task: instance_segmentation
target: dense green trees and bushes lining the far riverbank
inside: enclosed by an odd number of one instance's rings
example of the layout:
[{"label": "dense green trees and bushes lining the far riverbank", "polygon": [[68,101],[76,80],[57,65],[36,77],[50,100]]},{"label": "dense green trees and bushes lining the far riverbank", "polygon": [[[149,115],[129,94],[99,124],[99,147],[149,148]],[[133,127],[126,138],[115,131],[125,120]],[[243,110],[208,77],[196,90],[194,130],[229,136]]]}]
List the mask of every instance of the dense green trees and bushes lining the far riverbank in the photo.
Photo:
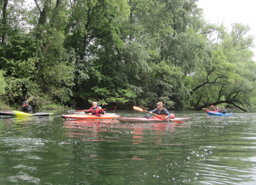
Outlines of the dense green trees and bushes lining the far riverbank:
[{"label": "dense green trees and bushes lining the far riverbank", "polygon": [[204,20],[197,0],[0,0],[0,96],[12,107],[255,110],[249,27]]}]

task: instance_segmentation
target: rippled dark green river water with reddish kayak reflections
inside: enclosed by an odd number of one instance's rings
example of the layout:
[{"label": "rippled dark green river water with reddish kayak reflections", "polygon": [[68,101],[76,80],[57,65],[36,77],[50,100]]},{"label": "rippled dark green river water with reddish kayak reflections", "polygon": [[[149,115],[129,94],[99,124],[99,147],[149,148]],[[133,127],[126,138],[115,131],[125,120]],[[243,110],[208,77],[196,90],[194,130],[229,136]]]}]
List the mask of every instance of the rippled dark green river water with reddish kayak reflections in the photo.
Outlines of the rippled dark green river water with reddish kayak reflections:
[{"label": "rippled dark green river water with reddish kayak reflections", "polygon": [[[0,118],[0,184],[255,184],[256,114],[182,124]],[[116,111],[123,117],[143,112]]]}]

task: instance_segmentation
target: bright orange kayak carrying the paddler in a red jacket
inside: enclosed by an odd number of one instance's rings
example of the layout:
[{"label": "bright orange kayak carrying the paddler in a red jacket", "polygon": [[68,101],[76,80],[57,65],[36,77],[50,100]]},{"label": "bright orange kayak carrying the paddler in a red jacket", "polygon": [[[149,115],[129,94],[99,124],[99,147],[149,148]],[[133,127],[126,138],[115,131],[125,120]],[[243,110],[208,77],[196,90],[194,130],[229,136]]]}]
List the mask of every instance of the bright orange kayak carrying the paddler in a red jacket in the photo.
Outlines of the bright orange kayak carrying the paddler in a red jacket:
[{"label": "bright orange kayak carrying the paddler in a red jacket", "polygon": [[93,116],[91,114],[63,114],[61,118],[65,119],[76,119],[76,120],[110,120],[119,118],[117,114],[103,114],[100,116]]}]

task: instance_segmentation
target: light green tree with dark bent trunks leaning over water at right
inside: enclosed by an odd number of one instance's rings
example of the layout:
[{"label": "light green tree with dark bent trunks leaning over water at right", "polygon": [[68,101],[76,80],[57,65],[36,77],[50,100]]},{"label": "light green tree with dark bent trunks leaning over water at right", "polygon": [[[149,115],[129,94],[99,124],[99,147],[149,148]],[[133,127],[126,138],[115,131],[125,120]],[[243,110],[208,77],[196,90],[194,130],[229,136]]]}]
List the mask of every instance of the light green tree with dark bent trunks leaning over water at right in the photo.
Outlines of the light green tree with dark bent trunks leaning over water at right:
[{"label": "light green tree with dark bent trunks leaning over water at right", "polygon": [[[195,110],[209,105],[229,103],[246,111],[255,97],[255,69],[252,61],[253,37],[249,27],[233,24],[231,33],[221,32],[221,42],[212,50],[212,61],[195,73],[192,100]],[[216,50],[214,50],[216,48]],[[249,67],[249,68],[248,68]]]}]

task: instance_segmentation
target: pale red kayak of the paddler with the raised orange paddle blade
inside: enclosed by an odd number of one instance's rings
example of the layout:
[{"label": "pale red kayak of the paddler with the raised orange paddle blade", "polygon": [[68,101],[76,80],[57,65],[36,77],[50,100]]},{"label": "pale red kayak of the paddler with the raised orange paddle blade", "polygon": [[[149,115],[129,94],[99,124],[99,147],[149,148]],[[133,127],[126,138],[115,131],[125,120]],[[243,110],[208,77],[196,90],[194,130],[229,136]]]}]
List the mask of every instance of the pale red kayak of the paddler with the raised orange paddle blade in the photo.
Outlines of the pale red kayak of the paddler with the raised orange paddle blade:
[{"label": "pale red kayak of the paddler with the raised orange paddle blade", "polygon": [[190,120],[190,117],[187,118],[173,118],[169,120],[163,120],[156,117],[150,117],[150,118],[116,118],[117,120],[121,122],[185,122],[187,120]]}]

